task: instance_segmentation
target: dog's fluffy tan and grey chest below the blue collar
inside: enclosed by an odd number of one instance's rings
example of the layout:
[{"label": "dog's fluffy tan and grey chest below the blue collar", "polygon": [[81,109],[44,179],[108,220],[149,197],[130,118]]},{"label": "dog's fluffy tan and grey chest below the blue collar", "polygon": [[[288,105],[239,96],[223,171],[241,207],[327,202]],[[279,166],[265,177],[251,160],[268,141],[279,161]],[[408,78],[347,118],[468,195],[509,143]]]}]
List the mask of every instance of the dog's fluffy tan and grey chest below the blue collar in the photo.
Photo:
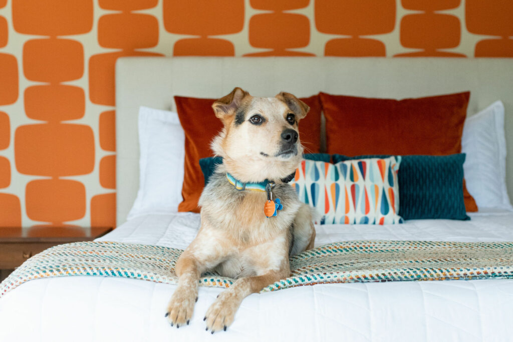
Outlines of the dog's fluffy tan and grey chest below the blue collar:
[{"label": "dog's fluffy tan and grey chest below the blue collar", "polygon": [[[233,278],[288,269],[292,243],[292,222],[300,207],[295,191],[287,184],[273,189],[283,209],[266,217],[265,192],[239,191],[228,183],[224,173],[215,173],[200,198],[204,228],[216,236],[226,258],[215,270]],[[287,265],[285,265],[287,264]]]}]

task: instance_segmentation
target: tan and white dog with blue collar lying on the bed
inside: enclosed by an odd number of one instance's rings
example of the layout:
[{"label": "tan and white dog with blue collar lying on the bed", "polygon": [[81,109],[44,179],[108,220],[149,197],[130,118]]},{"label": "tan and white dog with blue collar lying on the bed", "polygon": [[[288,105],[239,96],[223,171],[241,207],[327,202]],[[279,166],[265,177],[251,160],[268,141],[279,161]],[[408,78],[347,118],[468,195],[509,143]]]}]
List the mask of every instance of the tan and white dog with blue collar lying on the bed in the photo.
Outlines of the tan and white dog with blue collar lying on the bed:
[{"label": "tan and white dog with blue collar lying on the bed", "polygon": [[309,107],[286,92],[253,97],[235,88],[212,108],[224,124],[211,144],[223,164],[200,197],[201,227],[176,261],[165,316],[176,328],[189,324],[202,273],[236,278],[205,314],[213,334],[226,331],[246,296],[290,275],[289,256],[313,248],[315,229],[286,184],[302,159],[298,124]]}]

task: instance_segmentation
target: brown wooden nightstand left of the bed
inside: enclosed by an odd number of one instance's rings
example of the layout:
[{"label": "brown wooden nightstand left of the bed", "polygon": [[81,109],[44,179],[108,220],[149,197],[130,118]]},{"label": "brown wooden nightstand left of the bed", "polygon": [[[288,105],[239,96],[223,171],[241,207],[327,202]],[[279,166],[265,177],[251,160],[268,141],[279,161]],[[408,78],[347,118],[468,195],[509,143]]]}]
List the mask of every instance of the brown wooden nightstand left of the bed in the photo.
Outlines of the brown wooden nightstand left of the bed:
[{"label": "brown wooden nightstand left of the bed", "polygon": [[92,241],[110,232],[112,227],[34,227],[0,228],[0,281],[32,255],[55,245]]}]

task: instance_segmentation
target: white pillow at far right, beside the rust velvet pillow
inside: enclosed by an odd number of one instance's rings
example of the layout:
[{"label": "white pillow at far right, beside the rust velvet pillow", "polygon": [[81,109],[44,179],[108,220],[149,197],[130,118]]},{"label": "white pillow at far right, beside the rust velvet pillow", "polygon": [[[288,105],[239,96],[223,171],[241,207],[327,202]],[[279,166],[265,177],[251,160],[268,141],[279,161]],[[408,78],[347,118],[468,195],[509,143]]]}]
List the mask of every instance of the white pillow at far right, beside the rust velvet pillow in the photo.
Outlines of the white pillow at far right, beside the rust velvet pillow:
[{"label": "white pillow at far right, beside the rust velvet pillow", "polygon": [[497,101],[465,120],[461,140],[468,192],[478,208],[513,209],[506,189],[504,105]]}]

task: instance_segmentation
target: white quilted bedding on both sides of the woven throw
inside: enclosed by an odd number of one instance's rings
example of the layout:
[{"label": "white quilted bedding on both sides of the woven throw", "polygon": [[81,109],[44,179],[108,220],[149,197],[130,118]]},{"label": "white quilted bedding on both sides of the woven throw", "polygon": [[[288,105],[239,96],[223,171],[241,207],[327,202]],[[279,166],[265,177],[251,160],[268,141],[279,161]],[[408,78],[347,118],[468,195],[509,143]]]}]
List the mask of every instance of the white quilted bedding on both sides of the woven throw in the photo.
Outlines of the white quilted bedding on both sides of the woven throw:
[{"label": "white quilted bedding on both sides of the woven throw", "polygon": [[[513,212],[470,221],[410,220],[403,225],[317,226],[316,245],[338,240],[513,241]],[[147,215],[102,237],[186,248],[198,214]],[[126,278],[28,281],[0,300],[2,340],[174,341],[507,341],[513,339],[513,280],[326,284],[252,294],[227,332],[205,331],[219,288],[200,287],[190,326],[164,318],[174,285]]]}]

